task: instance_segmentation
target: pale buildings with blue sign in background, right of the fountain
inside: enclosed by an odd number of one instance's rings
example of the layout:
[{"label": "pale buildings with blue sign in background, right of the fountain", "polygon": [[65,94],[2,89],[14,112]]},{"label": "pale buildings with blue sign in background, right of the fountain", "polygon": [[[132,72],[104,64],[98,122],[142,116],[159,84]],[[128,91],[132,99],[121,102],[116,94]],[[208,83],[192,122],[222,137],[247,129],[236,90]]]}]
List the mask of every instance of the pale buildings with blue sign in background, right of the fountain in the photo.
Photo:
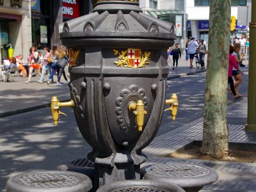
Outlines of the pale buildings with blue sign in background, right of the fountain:
[{"label": "pale buildings with blue sign in background, right of the fountain", "polygon": [[[209,0],[140,0],[140,7],[148,15],[175,24],[177,35],[175,41],[179,44],[182,45],[184,42],[182,39],[186,39],[187,36],[193,36],[197,40],[204,39],[207,44],[209,39],[209,3]],[[232,36],[239,37],[248,31],[248,24],[239,24],[239,20],[243,15],[247,17],[248,14],[243,12],[250,10],[248,8],[251,6],[252,0],[231,0],[231,16],[238,18],[236,30],[232,31]],[[241,14],[239,15],[239,13]],[[185,35],[183,33],[181,35],[181,31],[184,30]]]}]

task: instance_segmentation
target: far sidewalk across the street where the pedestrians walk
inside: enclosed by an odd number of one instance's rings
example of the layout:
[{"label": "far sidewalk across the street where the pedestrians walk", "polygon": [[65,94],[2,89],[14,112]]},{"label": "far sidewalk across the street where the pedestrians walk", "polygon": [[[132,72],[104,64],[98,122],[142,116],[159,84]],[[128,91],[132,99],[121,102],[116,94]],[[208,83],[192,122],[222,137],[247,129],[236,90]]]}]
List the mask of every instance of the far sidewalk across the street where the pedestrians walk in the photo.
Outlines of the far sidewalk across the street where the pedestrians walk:
[{"label": "far sidewalk across the street where the pedestrians walk", "polygon": [[[66,67],[66,74],[68,74],[67,70]],[[170,68],[168,79],[204,71],[205,69],[201,70],[196,68],[195,65],[193,68],[189,68],[189,61],[185,61],[184,57],[182,57],[179,60],[178,68],[175,68],[175,70]],[[47,77],[45,75],[44,79],[46,80]],[[25,83],[28,77],[20,77],[20,82],[17,79],[12,83],[3,83],[0,81],[0,118],[50,106],[52,96],[57,96],[61,101],[70,99],[67,84],[63,84],[62,86],[56,86],[56,83],[48,85],[46,81],[40,84],[36,82],[39,79],[40,77],[32,77],[32,83],[30,84]],[[54,81],[56,80],[57,76],[54,76]],[[61,77],[61,81],[64,83],[63,77]]]}]

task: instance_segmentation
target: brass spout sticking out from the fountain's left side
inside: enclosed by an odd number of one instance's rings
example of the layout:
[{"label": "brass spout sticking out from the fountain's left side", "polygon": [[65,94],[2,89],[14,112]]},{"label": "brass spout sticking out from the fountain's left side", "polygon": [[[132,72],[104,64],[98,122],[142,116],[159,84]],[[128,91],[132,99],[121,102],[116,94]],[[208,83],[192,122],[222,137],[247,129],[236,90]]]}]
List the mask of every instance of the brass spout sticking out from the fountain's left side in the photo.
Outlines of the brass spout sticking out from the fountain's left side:
[{"label": "brass spout sticking out from the fountain's left side", "polygon": [[67,107],[73,108],[74,101],[70,100],[68,102],[60,102],[57,97],[52,97],[51,111],[52,111],[52,118],[53,118],[54,125],[58,125],[58,120],[60,115],[67,116],[65,113],[62,113],[60,111],[60,108],[67,108]]}]

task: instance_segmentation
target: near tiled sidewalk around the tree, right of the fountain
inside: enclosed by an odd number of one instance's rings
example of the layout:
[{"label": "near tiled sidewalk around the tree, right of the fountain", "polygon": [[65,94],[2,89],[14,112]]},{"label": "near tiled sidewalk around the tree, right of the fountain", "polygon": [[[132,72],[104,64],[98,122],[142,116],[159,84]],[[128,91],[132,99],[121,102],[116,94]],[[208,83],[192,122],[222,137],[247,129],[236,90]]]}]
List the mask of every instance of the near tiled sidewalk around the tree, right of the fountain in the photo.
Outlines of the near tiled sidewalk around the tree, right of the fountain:
[{"label": "near tiled sidewalk around the tree, right of the fountain", "polygon": [[[244,147],[256,151],[256,132],[244,130],[247,120],[247,104],[247,98],[243,98],[228,106],[229,143],[241,149]],[[199,118],[154,138],[152,143],[143,150],[148,156],[148,161],[145,164],[180,162],[209,166],[218,172],[219,179],[214,184],[204,186],[200,190],[202,192],[256,191],[256,159],[254,163],[234,163],[164,157],[179,148],[186,148],[195,141],[202,141],[203,121],[203,118]]]}]

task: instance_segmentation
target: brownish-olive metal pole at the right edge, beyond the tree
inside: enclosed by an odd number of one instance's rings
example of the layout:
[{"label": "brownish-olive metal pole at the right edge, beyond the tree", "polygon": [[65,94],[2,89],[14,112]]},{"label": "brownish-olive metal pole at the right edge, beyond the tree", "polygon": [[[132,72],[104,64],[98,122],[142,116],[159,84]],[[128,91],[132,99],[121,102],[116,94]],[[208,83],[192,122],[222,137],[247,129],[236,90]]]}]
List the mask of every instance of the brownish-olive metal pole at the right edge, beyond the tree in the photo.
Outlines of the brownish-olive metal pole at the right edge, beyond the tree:
[{"label": "brownish-olive metal pole at the right edge, beyond the tree", "polygon": [[246,131],[256,131],[256,2],[252,1],[252,18],[250,22],[250,53],[249,54],[249,77],[248,77],[248,117],[245,125]]}]

